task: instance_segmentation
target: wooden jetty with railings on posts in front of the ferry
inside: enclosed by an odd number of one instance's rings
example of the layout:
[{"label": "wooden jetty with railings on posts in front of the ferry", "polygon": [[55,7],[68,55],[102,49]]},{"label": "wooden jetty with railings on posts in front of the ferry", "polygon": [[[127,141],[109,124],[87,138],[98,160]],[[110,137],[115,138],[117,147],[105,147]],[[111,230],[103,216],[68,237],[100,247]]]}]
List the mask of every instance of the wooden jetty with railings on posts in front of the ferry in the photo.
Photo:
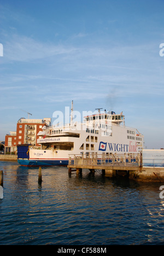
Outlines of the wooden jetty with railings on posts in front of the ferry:
[{"label": "wooden jetty with railings on posts in front of the ferry", "polygon": [[102,170],[105,176],[127,176],[137,182],[164,182],[164,167],[148,167],[142,164],[139,154],[88,154],[69,155],[68,172]]}]

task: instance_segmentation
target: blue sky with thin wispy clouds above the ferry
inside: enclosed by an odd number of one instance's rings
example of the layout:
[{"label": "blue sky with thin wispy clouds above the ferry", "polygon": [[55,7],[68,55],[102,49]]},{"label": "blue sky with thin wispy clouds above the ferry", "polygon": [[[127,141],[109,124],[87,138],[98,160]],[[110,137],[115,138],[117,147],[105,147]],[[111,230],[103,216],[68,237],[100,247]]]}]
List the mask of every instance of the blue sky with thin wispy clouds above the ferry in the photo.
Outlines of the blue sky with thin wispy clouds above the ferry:
[{"label": "blue sky with thin wispy clouds above the ferry", "polygon": [[81,115],[123,112],[145,148],[164,148],[163,9],[163,0],[0,0],[0,141],[27,112],[53,121],[73,100]]}]

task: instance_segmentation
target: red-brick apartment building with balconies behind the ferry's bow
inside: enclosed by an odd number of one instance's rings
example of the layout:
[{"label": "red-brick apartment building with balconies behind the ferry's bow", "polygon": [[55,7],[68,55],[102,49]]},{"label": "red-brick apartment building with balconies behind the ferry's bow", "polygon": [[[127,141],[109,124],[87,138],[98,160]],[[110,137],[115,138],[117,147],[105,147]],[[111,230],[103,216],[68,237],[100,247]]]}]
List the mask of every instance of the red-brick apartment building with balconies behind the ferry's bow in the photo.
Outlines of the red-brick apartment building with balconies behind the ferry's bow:
[{"label": "red-brick apartment building with balconies behind the ferry's bow", "polygon": [[49,126],[50,124],[51,118],[20,118],[17,121],[16,131],[10,131],[10,135],[5,136],[5,154],[16,153],[17,144],[31,144],[39,147],[40,145],[37,143],[37,139],[40,138],[38,132],[42,131],[43,126]]}]

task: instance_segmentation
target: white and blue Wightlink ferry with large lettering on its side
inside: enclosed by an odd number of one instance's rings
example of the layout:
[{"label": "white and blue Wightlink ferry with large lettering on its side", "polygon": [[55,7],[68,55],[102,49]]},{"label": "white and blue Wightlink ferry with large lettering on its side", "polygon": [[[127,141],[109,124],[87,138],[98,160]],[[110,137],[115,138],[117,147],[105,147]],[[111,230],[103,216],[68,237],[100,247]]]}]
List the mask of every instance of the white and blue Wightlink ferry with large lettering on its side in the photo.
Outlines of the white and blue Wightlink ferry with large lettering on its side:
[{"label": "white and blue Wightlink ferry with large lettering on its side", "polygon": [[[72,108],[73,109],[73,108]],[[83,122],[43,127],[37,143],[17,145],[17,161],[22,166],[67,166],[73,155],[138,154],[143,149],[144,136],[137,129],[125,126],[125,116],[113,111],[97,112],[84,117]]]}]

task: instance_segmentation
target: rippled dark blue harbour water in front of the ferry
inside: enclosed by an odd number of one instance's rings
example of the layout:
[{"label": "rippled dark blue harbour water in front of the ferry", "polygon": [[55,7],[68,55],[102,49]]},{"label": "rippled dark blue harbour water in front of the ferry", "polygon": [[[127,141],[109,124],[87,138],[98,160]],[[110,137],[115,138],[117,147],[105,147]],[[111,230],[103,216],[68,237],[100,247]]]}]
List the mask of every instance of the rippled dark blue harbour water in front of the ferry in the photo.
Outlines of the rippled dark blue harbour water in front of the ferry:
[{"label": "rippled dark blue harbour water in front of the ferry", "polygon": [[161,183],[0,161],[0,245],[164,245]]}]

